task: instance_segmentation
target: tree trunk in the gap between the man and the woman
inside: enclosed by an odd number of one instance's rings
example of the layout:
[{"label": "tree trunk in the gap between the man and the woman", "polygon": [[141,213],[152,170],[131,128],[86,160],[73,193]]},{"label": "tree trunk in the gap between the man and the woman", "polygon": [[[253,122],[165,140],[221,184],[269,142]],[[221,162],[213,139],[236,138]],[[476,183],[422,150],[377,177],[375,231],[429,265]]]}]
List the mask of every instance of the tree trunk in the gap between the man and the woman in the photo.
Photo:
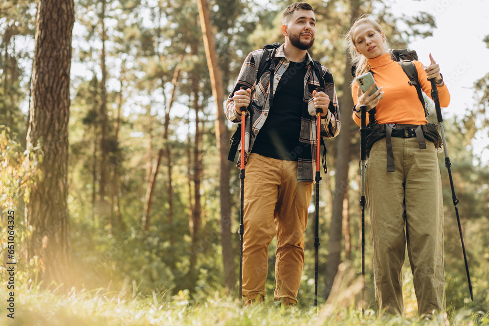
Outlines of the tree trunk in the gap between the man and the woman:
[{"label": "tree trunk in the gap between the man and the woman", "polygon": [[[352,1],[351,21],[353,22],[359,15],[359,7],[356,1]],[[341,262],[341,235],[343,224],[343,200],[345,192],[348,189],[348,167],[350,163],[349,151],[351,138],[350,126],[352,124],[352,107],[353,99],[350,91],[350,81],[352,72],[350,65],[347,63],[343,71],[343,96],[339,101],[341,110],[341,132],[338,135],[337,151],[336,151],[336,173],[335,187],[333,196],[333,212],[330,225],[330,243],[328,246],[328,264],[326,266],[326,296],[331,292],[334,277],[338,271],[338,266]]]}]

